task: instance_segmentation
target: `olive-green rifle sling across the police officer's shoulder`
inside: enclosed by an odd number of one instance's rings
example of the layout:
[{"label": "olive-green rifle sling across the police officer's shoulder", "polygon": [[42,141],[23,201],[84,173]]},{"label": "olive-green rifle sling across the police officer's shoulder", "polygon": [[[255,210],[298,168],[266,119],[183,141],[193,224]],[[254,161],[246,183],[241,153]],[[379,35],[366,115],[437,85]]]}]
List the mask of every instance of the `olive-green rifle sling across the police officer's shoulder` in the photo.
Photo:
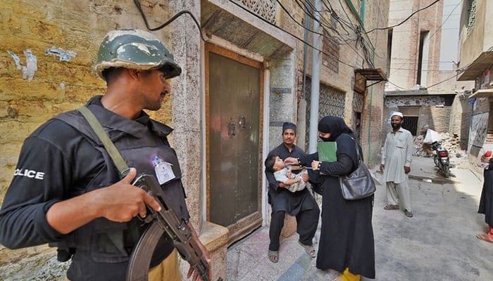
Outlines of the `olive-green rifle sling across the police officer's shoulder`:
[{"label": "olive-green rifle sling across the police officer's shoulder", "polygon": [[128,167],[127,162],[125,162],[125,159],[123,159],[122,155],[118,151],[118,148],[116,148],[115,144],[113,144],[113,142],[111,141],[108,133],[104,131],[103,126],[101,126],[101,123],[99,123],[98,119],[94,116],[91,110],[89,110],[89,108],[81,106],[78,108],[78,110],[80,111],[80,113],[82,113],[82,116],[85,117],[91,128],[94,130],[94,133],[96,133],[96,135],[98,136],[101,143],[103,143],[104,148],[110,155],[116,168],[118,169],[118,171],[120,171],[120,177],[124,178],[128,174],[130,168]]}]

